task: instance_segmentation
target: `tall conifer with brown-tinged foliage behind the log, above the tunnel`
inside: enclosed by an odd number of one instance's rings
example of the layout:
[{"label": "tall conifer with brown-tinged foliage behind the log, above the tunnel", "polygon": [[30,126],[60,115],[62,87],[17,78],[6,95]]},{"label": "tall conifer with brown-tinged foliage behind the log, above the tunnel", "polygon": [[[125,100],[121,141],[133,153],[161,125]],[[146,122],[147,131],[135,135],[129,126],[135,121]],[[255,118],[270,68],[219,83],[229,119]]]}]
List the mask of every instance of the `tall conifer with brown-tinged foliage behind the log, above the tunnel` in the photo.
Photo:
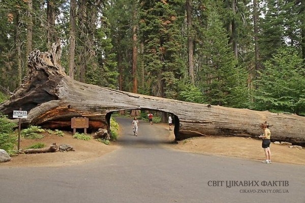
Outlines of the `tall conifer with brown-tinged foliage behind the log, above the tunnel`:
[{"label": "tall conifer with brown-tinged foliage behind the log, above the tunnel", "polygon": [[177,97],[177,84],[185,73],[187,62],[181,57],[186,43],[181,35],[184,23],[185,1],[163,4],[159,1],[143,1],[140,8],[140,36],[145,45],[141,55],[145,67],[144,81],[149,81],[150,95],[174,99]]}]

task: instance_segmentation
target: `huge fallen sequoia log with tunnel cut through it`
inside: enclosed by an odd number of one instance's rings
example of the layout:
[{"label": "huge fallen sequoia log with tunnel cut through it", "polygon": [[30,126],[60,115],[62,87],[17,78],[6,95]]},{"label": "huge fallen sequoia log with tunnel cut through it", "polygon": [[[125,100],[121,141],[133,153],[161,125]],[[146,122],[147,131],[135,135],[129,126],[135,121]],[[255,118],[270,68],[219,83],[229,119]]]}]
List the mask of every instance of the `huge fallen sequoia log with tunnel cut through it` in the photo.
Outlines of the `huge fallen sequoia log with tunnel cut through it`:
[{"label": "huge fallen sequoia log with tunnel cut through it", "polygon": [[28,56],[28,75],[24,84],[0,106],[12,119],[13,110],[28,111],[23,125],[50,129],[71,127],[71,118],[87,117],[89,129],[109,131],[111,113],[127,109],[151,109],[169,112],[175,120],[177,140],[204,135],[257,137],[265,121],[273,141],[305,143],[305,118],[297,115],[236,109],[133,94],[85,84],[65,74],[55,51],[33,51]]}]

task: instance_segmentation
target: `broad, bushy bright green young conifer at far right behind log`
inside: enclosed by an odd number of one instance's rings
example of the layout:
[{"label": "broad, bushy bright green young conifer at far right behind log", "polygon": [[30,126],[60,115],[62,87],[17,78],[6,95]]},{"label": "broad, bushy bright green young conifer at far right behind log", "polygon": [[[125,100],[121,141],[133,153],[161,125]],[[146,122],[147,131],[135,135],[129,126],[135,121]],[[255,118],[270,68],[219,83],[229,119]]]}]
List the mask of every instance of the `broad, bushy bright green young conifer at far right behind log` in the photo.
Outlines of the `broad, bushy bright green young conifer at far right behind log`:
[{"label": "broad, bushy bright green young conifer at far right behind log", "polygon": [[303,113],[305,78],[302,59],[292,48],[282,48],[265,62],[255,84],[258,110]]}]

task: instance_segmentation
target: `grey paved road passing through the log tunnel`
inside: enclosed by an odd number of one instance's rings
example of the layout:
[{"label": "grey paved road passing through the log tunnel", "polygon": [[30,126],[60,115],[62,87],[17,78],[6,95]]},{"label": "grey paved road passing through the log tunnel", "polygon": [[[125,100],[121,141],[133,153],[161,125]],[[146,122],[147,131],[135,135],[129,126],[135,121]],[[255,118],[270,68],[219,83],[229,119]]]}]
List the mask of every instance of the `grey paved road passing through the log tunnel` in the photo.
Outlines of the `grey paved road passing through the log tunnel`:
[{"label": "grey paved road passing through the log tunnel", "polygon": [[305,202],[305,166],[173,151],[164,126],[140,121],[135,137],[130,119],[117,121],[122,148],[96,161],[0,167],[0,202]]}]

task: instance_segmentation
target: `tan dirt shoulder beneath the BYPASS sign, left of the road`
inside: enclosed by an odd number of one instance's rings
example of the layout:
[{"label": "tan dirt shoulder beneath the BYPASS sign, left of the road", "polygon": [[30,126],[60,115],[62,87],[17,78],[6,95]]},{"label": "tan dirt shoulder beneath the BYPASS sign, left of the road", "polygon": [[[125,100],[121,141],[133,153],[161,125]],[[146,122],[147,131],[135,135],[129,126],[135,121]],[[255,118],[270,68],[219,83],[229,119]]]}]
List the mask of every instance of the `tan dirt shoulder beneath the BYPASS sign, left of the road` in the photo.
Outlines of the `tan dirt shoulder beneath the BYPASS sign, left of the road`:
[{"label": "tan dirt shoulder beneath the BYPASS sign, left of the road", "polygon": [[92,161],[98,157],[101,157],[109,152],[112,152],[119,147],[111,143],[109,146],[97,141],[93,138],[90,140],[79,140],[73,138],[72,133],[65,132],[64,136],[57,136],[53,134],[45,133],[42,139],[31,140],[22,138],[20,141],[20,149],[24,149],[33,143],[43,142],[46,147],[50,144],[70,144],[75,151],[71,152],[53,152],[53,153],[41,153],[41,154],[19,154],[18,156],[11,157],[11,161],[0,163],[1,166],[18,167],[18,166],[67,166],[74,164],[81,164],[88,161]]}]

